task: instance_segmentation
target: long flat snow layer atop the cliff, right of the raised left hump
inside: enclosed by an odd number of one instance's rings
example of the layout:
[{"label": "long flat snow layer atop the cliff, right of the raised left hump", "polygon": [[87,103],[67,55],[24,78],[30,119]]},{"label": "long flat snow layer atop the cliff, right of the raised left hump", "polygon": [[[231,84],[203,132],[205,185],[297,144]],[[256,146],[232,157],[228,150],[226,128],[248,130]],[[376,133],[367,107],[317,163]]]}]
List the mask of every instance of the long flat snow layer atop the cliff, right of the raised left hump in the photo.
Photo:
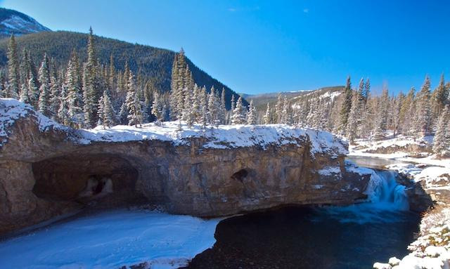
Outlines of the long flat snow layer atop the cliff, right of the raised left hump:
[{"label": "long flat snow layer atop the cliff, right of the raised left hump", "polygon": [[[159,126],[154,123],[143,124],[140,128],[118,125],[111,129],[78,130],[80,143],[125,142],[134,140],[163,140],[175,145],[188,145],[190,138],[205,138],[205,148],[233,148],[268,145],[299,145],[310,140],[311,153],[347,154],[347,145],[339,138],[325,131],[300,129],[285,124],[269,125],[220,125],[217,128],[194,124],[189,128],[184,122],[165,122]],[[300,146],[300,145],[299,145]]]}]

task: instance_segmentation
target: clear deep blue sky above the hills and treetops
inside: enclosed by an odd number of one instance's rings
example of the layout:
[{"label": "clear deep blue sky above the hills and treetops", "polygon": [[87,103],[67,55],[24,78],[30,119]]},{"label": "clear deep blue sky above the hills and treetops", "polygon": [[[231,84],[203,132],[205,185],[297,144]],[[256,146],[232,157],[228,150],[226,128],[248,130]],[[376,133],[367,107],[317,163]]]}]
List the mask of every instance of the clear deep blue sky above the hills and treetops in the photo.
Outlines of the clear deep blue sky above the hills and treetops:
[{"label": "clear deep blue sky above the hills and treetops", "polygon": [[4,0],[53,30],[179,51],[244,93],[450,80],[450,1]]}]

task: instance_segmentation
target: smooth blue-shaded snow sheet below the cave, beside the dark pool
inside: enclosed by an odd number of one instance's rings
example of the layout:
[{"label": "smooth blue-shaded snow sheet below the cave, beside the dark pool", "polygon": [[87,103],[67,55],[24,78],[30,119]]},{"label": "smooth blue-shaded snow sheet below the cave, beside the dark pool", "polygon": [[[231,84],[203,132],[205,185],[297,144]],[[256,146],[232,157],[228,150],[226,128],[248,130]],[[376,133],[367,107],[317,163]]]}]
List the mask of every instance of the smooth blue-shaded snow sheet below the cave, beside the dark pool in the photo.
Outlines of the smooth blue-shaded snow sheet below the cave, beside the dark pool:
[{"label": "smooth blue-shaded snow sheet below the cave, beside the dark pool", "polygon": [[[127,221],[124,221],[126,219]],[[220,219],[110,211],[0,242],[1,268],[178,268],[215,242]]]}]

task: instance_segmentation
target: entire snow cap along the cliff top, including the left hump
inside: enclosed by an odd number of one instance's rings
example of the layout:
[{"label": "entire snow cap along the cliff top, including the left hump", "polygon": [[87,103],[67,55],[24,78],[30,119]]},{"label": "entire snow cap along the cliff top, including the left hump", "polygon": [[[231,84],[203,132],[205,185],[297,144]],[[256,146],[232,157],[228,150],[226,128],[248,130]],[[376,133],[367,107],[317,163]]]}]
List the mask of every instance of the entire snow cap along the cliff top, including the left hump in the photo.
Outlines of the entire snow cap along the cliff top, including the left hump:
[{"label": "entire snow cap along the cliff top, including the left hump", "polygon": [[75,143],[89,144],[93,142],[127,142],[139,140],[172,141],[174,145],[189,145],[191,138],[207,138],[205,148],[233,148],[269,145],[298,145],[303,141],[311,141],[311,154],[326,153],[332,157],[347,154],[347,143],[326,131],[302,129],[285,124],[269,125],[219,125],[202,129],[200,125],[189,128],[179,122],[165,122],[163,126],[154,123],[143,124],[141,128],[134,126],[114,126],[111,129],[70,129],[54,122],[30,105],[15,99],[0,98],[0,146],[11,132],[11,126],[20,118],[32,117],[39,124],[40,131],[59,129],[70,131],[70,139]]}]

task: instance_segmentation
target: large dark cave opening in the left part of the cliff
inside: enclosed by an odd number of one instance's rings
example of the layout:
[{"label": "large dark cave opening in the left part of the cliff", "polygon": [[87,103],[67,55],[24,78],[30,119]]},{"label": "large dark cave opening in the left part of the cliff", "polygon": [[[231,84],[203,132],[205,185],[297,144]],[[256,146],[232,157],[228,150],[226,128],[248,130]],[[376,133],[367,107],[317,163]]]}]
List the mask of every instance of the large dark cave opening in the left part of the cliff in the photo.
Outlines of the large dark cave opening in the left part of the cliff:
[{"label": "large dark cave opening in the left part of the cliff", "polygon": [[51,201],[115,204],[137,197],[138,170],[116,155],[66,155],[32,164],[34,195]]}]

